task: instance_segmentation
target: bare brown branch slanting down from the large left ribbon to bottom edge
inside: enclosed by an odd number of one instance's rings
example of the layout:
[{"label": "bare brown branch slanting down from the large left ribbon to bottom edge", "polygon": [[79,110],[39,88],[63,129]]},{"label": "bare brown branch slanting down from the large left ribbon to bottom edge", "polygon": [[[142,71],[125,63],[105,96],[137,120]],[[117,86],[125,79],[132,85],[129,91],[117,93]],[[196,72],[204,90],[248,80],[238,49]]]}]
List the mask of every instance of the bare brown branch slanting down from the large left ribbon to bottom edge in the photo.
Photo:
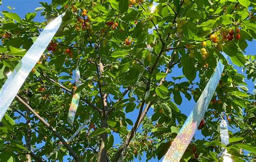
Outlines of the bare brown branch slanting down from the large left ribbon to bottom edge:
[{"label": "bare brown branch slanting down from the large left ribbon to bottom edge", "polygon": [[66,147],[66,149],[69,150],[71,156],[76,160],[76,161],[81,161],[75,151],[72,150],[72,148],[69,146],[69,144],[66,143],[65,139],[57,132],[57,130],[52,127],[49,123],[47,123],[41,116],[39,116],[38,113],[36,113],[32,107],[30,107],[21,97],[16,95],[16,98],[18,99],[19,102],[21,102],[30,112],[32,112],[50,131],[52,131],[60,141],[62,141],[63,145]]}]

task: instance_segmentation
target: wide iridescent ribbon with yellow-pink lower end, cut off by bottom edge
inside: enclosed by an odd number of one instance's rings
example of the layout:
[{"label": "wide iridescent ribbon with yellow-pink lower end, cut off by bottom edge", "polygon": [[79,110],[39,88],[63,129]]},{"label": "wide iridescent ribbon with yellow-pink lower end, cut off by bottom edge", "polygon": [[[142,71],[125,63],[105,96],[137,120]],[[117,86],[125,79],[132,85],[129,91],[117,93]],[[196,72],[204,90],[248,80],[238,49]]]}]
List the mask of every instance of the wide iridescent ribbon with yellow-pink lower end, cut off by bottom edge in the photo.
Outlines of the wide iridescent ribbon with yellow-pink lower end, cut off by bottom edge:
[{"label": "wide iridescent ribbon with yellow-pink lower end, cut off by bottom edge", "polygon": [[224,65],[219,61],[215,71],[213,72],[213,75],[211,76],[211,79],[207,83],[203,93],[198,99],[196,106],[187,117],[187,120],[181,127],[177,137],[173,140],[170,149],[165,154],[163,160],[164,162],[180,161],[187,146],[190,144],[194,133],[196,133],[201,119],[204,117],[207,107],[210,104],[215,89],[219,83],[223,69]]}]

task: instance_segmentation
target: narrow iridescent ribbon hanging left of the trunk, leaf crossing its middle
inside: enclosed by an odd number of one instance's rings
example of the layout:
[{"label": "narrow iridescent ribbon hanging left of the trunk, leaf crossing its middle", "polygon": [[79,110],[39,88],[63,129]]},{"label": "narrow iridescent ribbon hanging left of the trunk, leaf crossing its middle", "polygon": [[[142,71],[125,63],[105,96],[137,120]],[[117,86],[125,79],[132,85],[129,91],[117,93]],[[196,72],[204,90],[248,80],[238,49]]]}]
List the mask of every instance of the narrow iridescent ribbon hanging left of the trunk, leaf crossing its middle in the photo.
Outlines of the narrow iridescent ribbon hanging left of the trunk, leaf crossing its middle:
[{"label": "narrow iridescent ribbon hanging left of the trunk, leaf crossing its middle", "polygon": [[[79,87],[81,85],[81,81],[80,81],[80,71],[78,68],[76,69],[75,79],[76,79],[76,86]],[[80,92],[75,93],[73,95],[72,101],[69,107],[68,122],[72,125],[75,120],[79,100],[80,100]]]}]

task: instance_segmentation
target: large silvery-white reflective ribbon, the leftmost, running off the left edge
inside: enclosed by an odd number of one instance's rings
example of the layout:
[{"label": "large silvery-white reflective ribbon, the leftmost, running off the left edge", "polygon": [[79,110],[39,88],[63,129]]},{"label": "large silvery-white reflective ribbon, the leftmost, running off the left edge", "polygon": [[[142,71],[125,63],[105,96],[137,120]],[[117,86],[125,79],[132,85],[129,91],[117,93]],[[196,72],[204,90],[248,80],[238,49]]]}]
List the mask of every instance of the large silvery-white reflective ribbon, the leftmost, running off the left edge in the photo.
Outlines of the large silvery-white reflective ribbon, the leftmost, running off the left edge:
[{"label": "large silvery-white reflective ribbon, the leftmost, running off the left edge", "polygon": [[19,89],[25,82],[26,77],[28,77],[29,73],[36,65],[42,53],[44,53],[48,44],[59,29],[63,16],[64,14],[59,15],[51,23],[46,25],[44,30],[36,39],[36,42],[33,43],[31,48],[26,52],[24,57],[16,65],[14,71],[4,83],[0,91],[0,121],[8,110],[8,107],[11,105],[12,100],[14,100],[17,95]]}]

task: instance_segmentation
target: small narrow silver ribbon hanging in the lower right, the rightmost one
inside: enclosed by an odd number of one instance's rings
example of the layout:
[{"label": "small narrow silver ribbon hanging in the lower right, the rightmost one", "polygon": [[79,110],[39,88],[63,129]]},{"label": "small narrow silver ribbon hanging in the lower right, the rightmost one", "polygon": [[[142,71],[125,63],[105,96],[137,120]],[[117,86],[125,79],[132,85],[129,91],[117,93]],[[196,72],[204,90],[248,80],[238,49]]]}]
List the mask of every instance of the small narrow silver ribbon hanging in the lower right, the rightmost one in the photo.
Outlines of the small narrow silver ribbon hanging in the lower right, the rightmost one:
[{"label": "small narrow silver ribbon hanging in the lower right, the rightmost one", "polygon": [[[220,140],[224,145],[228,145],[228,130],[227,130],[227,122],[222,119],[220,123]],[[231,154],[227,153],[227,149],[223,151],[223,161],[232,162]]]}]

